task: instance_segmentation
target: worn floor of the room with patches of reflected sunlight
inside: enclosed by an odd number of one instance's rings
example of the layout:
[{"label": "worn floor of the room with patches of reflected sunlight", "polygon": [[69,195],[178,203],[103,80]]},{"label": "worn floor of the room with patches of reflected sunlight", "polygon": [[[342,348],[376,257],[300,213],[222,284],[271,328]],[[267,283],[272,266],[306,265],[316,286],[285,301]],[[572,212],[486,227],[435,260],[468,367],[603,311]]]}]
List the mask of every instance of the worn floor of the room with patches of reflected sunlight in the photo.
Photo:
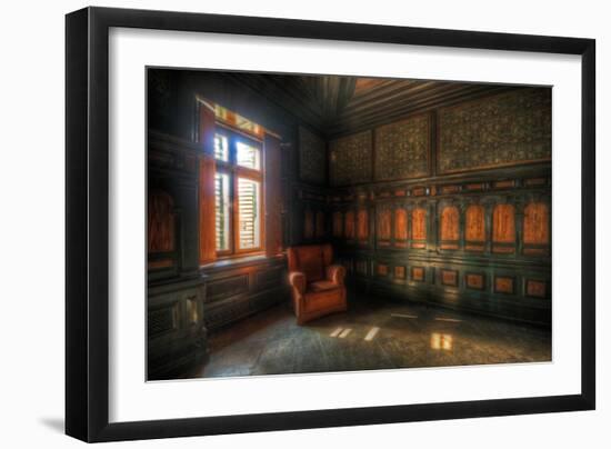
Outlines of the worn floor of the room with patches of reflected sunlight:
[{"label": "worn floor of the room with patches of reflected sunlight", "polygon": [[213,335],[208,363],[189,377],[550,360],[550,330],[492,318],[377,301],[300,327],[277,306]]}]

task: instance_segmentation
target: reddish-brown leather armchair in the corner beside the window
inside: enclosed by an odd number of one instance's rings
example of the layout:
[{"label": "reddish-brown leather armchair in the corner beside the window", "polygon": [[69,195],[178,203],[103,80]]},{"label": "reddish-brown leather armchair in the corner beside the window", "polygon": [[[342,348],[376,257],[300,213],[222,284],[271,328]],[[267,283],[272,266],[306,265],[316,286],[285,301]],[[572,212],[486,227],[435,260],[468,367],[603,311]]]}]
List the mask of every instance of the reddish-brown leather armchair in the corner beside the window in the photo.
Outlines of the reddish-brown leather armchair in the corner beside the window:
[{"label": "reddish-brown leather armchair in the corner beside the window", "polygon": [[347,310],[345,269],[331,265],[331,245],[292,247],[288,255],[289,282],[298,325]]}]

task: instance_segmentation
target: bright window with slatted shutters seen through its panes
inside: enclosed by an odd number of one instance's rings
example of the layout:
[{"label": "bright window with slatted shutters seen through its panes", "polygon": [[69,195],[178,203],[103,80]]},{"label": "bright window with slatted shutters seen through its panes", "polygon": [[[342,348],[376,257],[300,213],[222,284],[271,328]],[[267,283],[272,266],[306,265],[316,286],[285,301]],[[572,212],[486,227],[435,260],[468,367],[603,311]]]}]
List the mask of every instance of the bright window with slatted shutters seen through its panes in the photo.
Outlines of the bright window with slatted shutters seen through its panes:
[{"label": "bright window with slatted shutters seen through its panes", "polygon": [[214,159],[217,253],[232,256],[262,250],[261,143],[218,126]]}]

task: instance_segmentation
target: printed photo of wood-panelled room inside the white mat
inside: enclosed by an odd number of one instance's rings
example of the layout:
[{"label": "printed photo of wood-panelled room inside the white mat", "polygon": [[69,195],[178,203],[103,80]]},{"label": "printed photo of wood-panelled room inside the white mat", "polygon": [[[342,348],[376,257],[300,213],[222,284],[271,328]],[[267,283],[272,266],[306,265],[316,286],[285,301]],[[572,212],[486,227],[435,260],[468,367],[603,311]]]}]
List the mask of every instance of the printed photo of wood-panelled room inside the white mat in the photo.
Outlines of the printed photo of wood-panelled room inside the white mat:
[{"label": "printed photo of wood-panelled room inside the white mat", "polygon": [[551,361],[550,87],[147,83],[148,380]]}]

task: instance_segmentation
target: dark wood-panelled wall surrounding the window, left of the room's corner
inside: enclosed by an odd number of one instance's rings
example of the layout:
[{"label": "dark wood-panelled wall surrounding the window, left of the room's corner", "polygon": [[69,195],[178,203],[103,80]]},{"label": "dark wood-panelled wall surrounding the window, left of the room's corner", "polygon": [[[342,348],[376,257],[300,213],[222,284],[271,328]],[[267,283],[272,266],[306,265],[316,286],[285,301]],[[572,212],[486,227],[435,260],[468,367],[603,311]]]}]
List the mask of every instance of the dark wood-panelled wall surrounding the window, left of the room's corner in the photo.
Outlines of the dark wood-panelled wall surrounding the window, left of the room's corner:
[{"label": "dark wood-panelled wall surrounding the window, left of the room's corner", "polygon": [[[239,76],[148,71],[149,379],[184,373],[206,357],[208,332],[289,298],[286,261],[278,251],[200,267],[198,98],[281,137],[280,148],[274,148],[280,158],[271,161],[280,179],[264,182],[267,201],[273,201],[281,214],[279,226],[266,227],[273,232],[267,240],[277,239],[280,250],[302,240],[302,220],[292,219],[301,217],[302,202],[291,193],[310,186],[321,189],[325,183],[325,174],[299,174],[299,139],[319,139],[320,144],[318,131],[300,127],[290,111],[243,86]],[[324,141],[312,167],[321,162],[324,170]]]}]

